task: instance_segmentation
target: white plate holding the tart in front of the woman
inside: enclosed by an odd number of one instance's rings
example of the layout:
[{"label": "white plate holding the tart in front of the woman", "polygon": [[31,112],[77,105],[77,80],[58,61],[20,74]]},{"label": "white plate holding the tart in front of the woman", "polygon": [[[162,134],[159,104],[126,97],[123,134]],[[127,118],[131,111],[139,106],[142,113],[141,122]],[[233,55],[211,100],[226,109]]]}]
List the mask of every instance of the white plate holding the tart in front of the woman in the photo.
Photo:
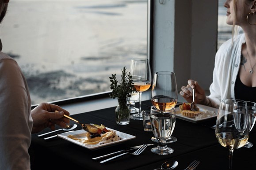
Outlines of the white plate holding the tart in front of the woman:
[{"label": "white plate holding the tart in front of the woman", "polygon": [[187,120],[189,122],[193,122],[193,123],[197,123],[203,120],[207,120],[209,118],[214,118],[218,115],[218,109],[213,108],[213,107],[209,107],[209,106],[205,106],[205,105],[201,105],[201,104],[196,104],[196,106],[199,108],[199,111],[204,112],[204,114],[199,115],[195,118],[188,118],[186,116],[183,116],[180,112],[180,107],[176,107],[175,111],[176,111],[176,117],[183,119],[183,120]]}]

